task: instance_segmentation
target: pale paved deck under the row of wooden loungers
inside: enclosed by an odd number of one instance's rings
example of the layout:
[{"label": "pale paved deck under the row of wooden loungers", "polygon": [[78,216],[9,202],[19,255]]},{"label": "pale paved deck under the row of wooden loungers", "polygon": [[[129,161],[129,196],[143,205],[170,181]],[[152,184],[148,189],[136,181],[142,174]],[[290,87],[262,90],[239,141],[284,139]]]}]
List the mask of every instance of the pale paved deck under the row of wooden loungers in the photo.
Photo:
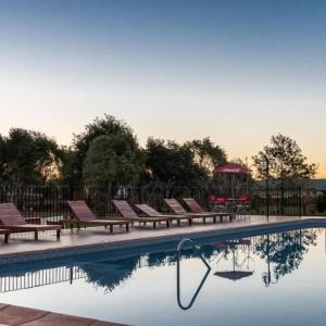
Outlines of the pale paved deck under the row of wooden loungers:
[{"label": "pale paved deck under the row of wooden loungers", "polygon": [[[39,240],[33,239],[29,235],[12,235],[9,244],[0,244],[0,258],[29,255],[35,253],[54,252],[67,249],[79,249],[96,246],[110,244],[137,244],[150,240],[168,240],[173,238],[191,237],[199,235],[229,235],[248,230],[264,230],[279,228],[281,226],[310,226],[313,224],[326,226],[326,217],[285,217],[272,216],[268,220],[265,216],[237,217],[233,222],[223,223],[195,223],[192,226],[181,224],[181,226],[172,226],[170,228],[159,225],[156,229],[147,227],[131,227],[129,233],[125,233],[118,226],[114,233],[103,227],[92,227],[87,229],[63,230],[61,239],[55,240],[52,233],[43,233]],[[0,239],[2,240],[2,239]]]}]

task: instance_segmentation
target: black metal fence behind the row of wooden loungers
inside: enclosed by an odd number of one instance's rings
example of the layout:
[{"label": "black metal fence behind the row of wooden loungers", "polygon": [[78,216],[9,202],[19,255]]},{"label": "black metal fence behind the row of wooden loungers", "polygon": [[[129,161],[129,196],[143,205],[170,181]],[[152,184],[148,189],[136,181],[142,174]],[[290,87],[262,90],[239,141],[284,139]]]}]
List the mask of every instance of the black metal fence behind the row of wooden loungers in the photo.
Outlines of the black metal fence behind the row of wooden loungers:
[{"label": "black metal fence behind the row of wooden loungers", "polygon": [[[246,189],[250,195],[251,214],[301,216],[313,215],[311,193],[297,189]],[[249,193],[248,193],[249,192]],[[57,187],[57,186],[9,186],[0,185],[0,202],[13,202],[27,220],[57,222],[67,217],[67,200],[84,200],[97,216],[115,215],[113,199],[125,199],[133,203],[149,203],[166,212],[164,198],[195,198],[204,208],[209,208],[212,193],[205,188],[167,187],[164,185],[142,187]],[[242,193],[244,195],[244,193]]]}]

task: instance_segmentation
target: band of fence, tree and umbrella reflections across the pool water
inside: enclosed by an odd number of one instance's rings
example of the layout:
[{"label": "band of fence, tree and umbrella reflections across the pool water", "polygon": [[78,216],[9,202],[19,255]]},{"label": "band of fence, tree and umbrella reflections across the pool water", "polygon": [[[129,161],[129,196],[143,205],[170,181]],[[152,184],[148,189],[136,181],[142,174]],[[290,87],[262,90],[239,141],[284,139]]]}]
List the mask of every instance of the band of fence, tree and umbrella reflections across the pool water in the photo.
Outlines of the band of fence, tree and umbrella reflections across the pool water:
[{"label": "band of fence, tree and umbrella reflections across the pool water", "polygon": [[[300,267],[309,248],[316,244],[317,233],[317,229],[300,229],[249,239],[214,242],[202,244],[200,253],[211,263],[215,276],[237,281],[253,275],[254,269],[250,265],[259,258],[265,263],[265,272],[261,277],[262,284],[268,287]],[[86,255],[84,259],[70,261],[68,264],[60,260],[52,261],[53,267],[47,266],[47,262],[2,267],[0,290],[8,292],[58,283],[72,284],[75,279],[83,278],[96,288],[100,287],[105,292],[112,292],[139,268],[175,265],[179,268],[178,255],[174,248],[175,246],[161,252],[124,253],[122,256],[110,258],[104,252]],[[181,251],[180,260],[196,259],[196,256],[192,249],[186,247]],[[224,269],[220,266],[222,262]],[[181,277],[179,271],[177,276]],[[202,283],[208,276],[204,275]],[[203,284],[200,284],[200,289],[202,286]]]}]

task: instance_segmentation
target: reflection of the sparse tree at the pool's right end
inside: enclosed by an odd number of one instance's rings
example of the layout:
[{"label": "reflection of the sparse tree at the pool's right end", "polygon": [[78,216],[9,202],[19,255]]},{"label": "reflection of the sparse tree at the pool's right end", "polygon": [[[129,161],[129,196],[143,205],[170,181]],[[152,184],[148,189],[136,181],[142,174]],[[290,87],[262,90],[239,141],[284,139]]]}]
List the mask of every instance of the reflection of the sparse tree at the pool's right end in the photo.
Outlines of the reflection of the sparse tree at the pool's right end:
[{"label": "reflection of the sparse tree at the pool's right end", "polygon": [[277,281],[279,277],[298,269],[304,254],[309,251],[309,247],[316,244],[316,230],[313,229],[288,231],[260,238],[255,251],[267,263],[268,272],[264,276],[268,278],[264,279],[266,285],[271,283],[269,264],[273,264],[274,277]]}]

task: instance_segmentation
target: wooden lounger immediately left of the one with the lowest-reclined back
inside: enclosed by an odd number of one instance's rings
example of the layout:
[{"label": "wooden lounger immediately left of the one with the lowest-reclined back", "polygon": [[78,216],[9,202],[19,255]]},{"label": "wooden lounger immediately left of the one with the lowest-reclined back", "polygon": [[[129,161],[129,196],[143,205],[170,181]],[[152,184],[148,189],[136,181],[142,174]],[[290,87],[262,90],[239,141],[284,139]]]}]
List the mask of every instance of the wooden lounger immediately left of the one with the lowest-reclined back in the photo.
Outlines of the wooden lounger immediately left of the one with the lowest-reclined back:
[{"label": "wooden lounger immediately left of the one with the lowest-reclined back", "polygon": [[153,228],[156,228],[156,224],[159,222],[165,222],[166,227],[170,227],[171,217],[164,216],[164,217],[146,217],[146,216],[138,216],[136,212],[133,210],[133,208],[128,204],[125,200],[112,200],[113,204],[117,209],[117,211],[123,215],[124,218],[126,218],[129,222],[138,222],[139,224],[143,223],[145,225],[147,223],[152,223]]}]

